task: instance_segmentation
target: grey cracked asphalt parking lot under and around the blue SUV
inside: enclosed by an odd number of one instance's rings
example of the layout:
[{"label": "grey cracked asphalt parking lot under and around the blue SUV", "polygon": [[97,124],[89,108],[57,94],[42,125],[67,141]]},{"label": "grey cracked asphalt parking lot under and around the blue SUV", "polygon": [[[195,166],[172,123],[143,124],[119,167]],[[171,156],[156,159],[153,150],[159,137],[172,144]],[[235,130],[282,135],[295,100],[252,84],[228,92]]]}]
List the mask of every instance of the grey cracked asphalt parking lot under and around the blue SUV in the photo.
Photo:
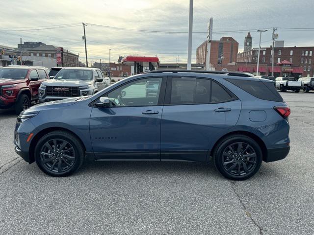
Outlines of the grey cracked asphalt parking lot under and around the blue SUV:
[{"label": "grey cracked asphalt parking lot under and around the blue SUV", "polygon": [[288,157],[234,182],[213,165],[97,162],[52,178],[14,152],[0,110],[0,234],[314,234],[314,92],[291,108]]}]

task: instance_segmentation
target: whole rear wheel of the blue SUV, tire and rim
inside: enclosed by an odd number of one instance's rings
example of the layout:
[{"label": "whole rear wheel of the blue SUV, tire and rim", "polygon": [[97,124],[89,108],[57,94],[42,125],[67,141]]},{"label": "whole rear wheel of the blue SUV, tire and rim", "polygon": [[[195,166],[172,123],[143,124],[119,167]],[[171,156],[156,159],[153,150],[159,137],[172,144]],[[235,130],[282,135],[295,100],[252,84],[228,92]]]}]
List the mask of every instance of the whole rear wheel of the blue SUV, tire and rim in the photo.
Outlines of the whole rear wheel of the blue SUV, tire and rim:
[{"label": "whole rear wheel of the blue SUV, tire and rim", "polygon": [[[237,149],[240,146],[238,155]],[[233,152],[229,148],[231,146]],[[238,155],[238,156],[237,156]],[[245,157],[250,156],[250,157]],[[262,150],[259,144],[245,135],[232,135],[219,141],[212,154],[216,169],[231,180],[246,180],[258,172],[262,164]],[[246,166],[246,169],[244,167]],[[240,168],[239,168],[240,166]]]}]

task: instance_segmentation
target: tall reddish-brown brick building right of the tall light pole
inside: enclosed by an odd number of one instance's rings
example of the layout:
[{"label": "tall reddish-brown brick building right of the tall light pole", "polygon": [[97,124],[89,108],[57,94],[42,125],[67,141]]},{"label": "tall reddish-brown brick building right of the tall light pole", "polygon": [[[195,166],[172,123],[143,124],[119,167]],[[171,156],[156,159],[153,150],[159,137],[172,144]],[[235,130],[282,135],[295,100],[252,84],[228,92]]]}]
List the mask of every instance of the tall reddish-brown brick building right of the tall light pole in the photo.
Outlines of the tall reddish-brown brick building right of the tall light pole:
[{"label": "tall reddish-brown brick building right of the tall light pole", "polygon": [[[222,37],[210,43],[210,64],[227,65],[236,61],[239,44],[232,37]],[[202,43],[196,48],[196,64],[205,64],[207,55],[207,43]]]}]

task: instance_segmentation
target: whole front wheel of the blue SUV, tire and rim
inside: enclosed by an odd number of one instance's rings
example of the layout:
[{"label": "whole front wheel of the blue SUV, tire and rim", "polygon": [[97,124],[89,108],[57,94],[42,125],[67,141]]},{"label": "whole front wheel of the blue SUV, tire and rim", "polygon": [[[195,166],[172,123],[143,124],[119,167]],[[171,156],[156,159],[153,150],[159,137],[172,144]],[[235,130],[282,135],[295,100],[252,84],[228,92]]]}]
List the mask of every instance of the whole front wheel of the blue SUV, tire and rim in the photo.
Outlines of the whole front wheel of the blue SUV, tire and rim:
[{"label": "whole front wheel of the blue SUV, tire and rim", "polygon": [[73,174],[83,164],[84,157],[81,142],[66,131],[46,134],[35,147],[36,164],[44,173],[54,177]]}]

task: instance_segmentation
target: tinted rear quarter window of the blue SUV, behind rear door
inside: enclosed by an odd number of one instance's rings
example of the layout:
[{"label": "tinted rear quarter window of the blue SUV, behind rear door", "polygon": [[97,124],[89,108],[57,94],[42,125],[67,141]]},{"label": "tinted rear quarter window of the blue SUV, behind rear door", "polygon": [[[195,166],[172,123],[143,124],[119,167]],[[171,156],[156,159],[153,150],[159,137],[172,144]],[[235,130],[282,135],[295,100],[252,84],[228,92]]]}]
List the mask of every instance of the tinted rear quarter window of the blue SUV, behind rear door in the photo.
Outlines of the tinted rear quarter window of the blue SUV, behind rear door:
[{"label": "tinted rear quarter window of the blue SUV, behind rear door", "polygon": [[277,92],[272,82],[262,82],[259,80],[251,81],[232,78],[227,78],[226,80],[259,99],[284,102],[283,98]]}]

